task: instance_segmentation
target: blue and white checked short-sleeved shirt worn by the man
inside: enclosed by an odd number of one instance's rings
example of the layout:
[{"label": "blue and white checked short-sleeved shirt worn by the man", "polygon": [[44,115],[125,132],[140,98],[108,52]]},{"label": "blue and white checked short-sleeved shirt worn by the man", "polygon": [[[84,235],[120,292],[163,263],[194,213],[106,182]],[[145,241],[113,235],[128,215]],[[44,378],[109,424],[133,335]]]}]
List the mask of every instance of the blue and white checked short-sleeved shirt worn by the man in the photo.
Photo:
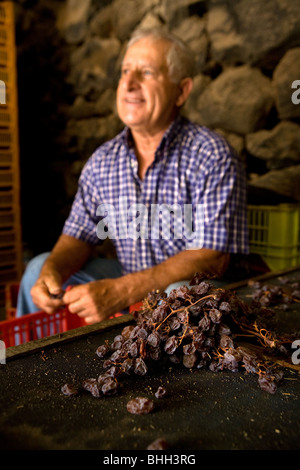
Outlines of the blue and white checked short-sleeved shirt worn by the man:
[{"label": "blue and white checked short-sleeved shirt worn by the man", "polygon": [[[180,230],[180,211],[169,211],[171,222],[157,225],[163,207],[192,208],[192,232]],[[109,236],[124,273],[188,248],[248,253],[243,164],[221,136],[178,117],[141,180],[125,128],[87,161],[63,233],[91,244]]]}]

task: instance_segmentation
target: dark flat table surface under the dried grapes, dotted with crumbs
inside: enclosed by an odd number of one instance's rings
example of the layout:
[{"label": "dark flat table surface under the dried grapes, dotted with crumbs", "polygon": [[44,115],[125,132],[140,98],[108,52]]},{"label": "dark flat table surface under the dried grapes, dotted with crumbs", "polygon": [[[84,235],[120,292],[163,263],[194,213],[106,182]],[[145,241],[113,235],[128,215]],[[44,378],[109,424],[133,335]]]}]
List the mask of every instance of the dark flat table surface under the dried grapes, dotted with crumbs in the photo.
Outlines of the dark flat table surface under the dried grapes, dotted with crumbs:
[{"label": "dark flat table surface under the dried grapes, dotted with crumbs", "polygon": [[[299,279],[300,271],[287,276]],[[237,293],[247,299],[251,290],[238,285]],[[300,376],[293,369],[285,369],[274,395],[243,371],[191,371],[171,363],[143,377],[123,378],[115,396],[63,395],[66,382],[98,377],[104,369],[96,348],[131,321],[123,316],[101,328],[83,327],[9,348],[6,364],[0,365],[0,448],[145,450],[163,437],[171,451],[299,449]],[[282,330],[300,332],[300,304],[288,312],[278,309],[275,321]],[[158,399],[160,385],[169,395]],[[137,396],[154,400],[154,412],[130,414],[126,404]]]}]

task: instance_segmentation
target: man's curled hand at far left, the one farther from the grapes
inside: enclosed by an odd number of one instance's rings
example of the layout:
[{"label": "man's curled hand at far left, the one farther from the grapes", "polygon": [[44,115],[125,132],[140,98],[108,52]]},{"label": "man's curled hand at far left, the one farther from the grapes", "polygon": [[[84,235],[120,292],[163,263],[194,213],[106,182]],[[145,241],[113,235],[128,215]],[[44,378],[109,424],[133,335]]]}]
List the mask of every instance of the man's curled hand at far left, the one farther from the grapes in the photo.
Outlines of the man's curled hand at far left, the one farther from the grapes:
[{"label": "man's curled hand at far left, the one farther from the grapes", "polygon": [[59,298],[61,293],[61,279],[54,274],[40,277],[31,289],[33,302],[46,313],[53,313],[64,305]]}]

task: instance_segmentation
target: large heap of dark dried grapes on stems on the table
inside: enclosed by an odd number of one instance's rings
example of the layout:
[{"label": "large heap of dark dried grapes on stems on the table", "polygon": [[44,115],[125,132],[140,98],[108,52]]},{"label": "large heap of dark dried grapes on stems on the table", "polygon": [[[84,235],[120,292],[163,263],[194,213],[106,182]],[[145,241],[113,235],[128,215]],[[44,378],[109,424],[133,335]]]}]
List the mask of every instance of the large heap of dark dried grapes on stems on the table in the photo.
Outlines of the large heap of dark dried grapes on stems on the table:
[{"label": "large heap of dark dried grapes on stems on the table", "polygon": [[[106,341],[97,348],[105,372],[85,389],[93,396],[115,394],[122,376],[146,376],[149,368],[170,361],[189,369],[257,374],[261,389],[275,393],[283,379],[278,364],[284,359],[278,357],[286,358],[293,339],[261,327],[261,318],[269,315],[269,307],[248,304],[195,274],[190,286],[169,295],[149,293],[141,309],[133,312],[134,324],[123,328],[111,344]],[[238,344],[243,336],[257,340],[257,347]],[[161,394],[163,390],[157,397]]]}]

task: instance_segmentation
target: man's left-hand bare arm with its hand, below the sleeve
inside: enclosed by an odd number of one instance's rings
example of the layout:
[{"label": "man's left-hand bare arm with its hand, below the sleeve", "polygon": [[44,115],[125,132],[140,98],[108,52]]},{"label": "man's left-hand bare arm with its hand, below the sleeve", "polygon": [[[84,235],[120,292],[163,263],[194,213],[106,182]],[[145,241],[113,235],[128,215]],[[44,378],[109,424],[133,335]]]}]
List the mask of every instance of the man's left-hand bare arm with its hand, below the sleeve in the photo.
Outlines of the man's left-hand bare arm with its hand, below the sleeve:
[{"label": "man's left-hand bare arm with its hand, below the sleeve", "polygon": [[62,284],[88,260],[92,247],[76,238],[61,235],[45,261],[40,276],[31,289],[32,300],[47,313],[63,305],[62,300],[51,298],[59,294]]}]

